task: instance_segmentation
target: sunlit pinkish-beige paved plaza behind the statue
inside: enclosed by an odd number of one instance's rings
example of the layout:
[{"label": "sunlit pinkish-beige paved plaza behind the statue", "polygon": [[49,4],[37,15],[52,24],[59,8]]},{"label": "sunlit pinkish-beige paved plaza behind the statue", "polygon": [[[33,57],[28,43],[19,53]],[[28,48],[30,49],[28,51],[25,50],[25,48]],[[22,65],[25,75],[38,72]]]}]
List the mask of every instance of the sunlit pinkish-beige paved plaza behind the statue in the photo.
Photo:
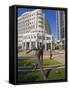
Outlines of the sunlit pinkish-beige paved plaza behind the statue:
[{"label": "sunlit pinkish-beige paved plaza behind the statue", "polygon": [[[30,58],[33,59],[35,58],[35,51],[32,51],[29,54],[27,54],[26,52],[19,52],[18,58],[19,59],[30,59]],[[44,52],[43,58],[44,59],[50,58],[50,51]],[[64,50],[53,50],[52,58],[54,60],[58,60],[62,64],[65,64],[65,51]]]}]

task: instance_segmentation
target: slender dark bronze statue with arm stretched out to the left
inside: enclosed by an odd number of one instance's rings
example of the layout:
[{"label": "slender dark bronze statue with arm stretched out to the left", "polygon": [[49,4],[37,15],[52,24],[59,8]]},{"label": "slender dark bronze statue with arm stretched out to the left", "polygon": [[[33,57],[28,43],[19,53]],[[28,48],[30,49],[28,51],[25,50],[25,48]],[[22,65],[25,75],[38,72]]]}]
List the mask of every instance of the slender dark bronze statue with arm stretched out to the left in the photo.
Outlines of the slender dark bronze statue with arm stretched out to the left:
[{"label": "slender dark bronze statue with arm stretched out to the left", "polygon": [[31,49],[27,53],[31,52],[32,50],[36,51],[36,65],[34,65],[35,69],[39,66],[40,71],[43,75],[43,79],[46,80],[45,73],[43,71],[43,52],[44,52],[44,45],[38,46],[38,48]]}]

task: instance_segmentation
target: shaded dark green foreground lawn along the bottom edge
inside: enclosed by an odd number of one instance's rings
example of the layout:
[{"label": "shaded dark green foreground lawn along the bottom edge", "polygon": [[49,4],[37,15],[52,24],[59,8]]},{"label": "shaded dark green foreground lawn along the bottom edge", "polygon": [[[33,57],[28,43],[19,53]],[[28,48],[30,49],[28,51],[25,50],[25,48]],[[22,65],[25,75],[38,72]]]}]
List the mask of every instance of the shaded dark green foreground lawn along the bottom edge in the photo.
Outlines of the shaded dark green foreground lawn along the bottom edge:
[{"label": "shaded dark green foreground lawn along the bottom edge", "polygon": [[[47,80],[60,80],[65,79],[65,69],[55,69],[49,73]],[[41,81],[43,76],[40,71],[34,72],[18,72],[18,81]]]}]

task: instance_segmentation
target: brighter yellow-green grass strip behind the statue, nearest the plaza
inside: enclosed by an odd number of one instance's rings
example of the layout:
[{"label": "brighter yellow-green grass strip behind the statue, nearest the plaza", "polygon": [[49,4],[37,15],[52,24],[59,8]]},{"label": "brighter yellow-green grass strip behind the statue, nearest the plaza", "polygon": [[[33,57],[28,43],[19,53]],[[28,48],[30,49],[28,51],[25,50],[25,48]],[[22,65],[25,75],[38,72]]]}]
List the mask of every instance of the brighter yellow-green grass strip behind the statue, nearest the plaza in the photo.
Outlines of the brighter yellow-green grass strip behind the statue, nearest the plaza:
[{"label": "brighter yellow-green grass strip behind the statue, nearest the plaza", "polygon": [[[32,59],[23,60],[22,59],[22,60],[18,60],[17,64],[18,64],[18,66],[34,65],[34,64],[36,64],[36,60],[32,60]],[[44,65],[57,65],[57,64],[61,64],[61,63],[54,59],[52,59],[52,60],[44,59],[43,64]]]}]

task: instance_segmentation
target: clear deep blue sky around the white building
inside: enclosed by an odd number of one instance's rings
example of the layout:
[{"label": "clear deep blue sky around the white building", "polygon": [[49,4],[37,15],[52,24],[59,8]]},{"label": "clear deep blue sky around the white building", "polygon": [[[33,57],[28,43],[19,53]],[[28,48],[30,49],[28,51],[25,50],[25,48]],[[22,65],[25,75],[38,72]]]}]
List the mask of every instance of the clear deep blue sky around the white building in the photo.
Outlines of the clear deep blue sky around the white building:
[{"label": "clear deep blue sky around the white building", "polygon": [[[31,8],[18,8],[18,16],[23,14],[26,11],[32,11],[34,9]],[[51,27],[51,32],[54,38],[56,38],[56,10],[48,10],[44,9],[43,12],[48,17],[48,22]]]}]

